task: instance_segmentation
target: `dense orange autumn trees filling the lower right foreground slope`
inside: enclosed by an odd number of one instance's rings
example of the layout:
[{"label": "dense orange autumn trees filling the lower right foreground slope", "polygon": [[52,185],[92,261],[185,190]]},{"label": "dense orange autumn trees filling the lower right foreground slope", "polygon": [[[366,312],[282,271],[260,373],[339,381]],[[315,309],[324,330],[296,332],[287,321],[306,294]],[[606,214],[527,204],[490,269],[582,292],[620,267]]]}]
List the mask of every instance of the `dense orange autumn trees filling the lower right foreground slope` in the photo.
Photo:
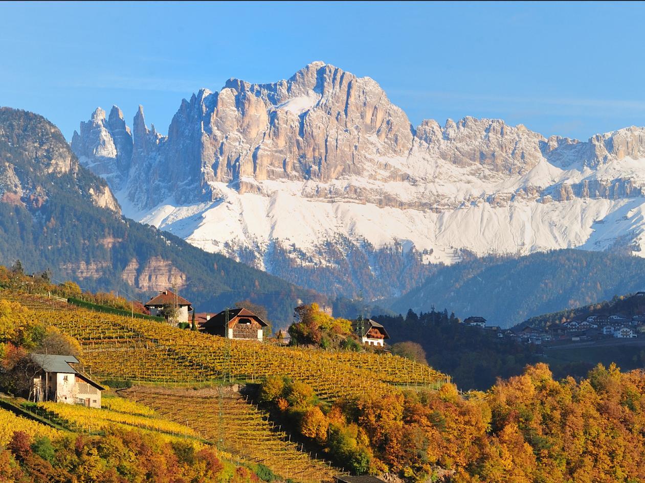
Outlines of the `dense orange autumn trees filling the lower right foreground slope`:
[{"label": "dense orange autumn trees filling the lower right foreground slope", "polygon": [[318,400],[312,388],[268,379],[261,399],[294,432],[353,473],[409,482],[637,483],[645,480],[645,373],[597,366],[553,379],[546,364],[464,398],[377,391]]}]

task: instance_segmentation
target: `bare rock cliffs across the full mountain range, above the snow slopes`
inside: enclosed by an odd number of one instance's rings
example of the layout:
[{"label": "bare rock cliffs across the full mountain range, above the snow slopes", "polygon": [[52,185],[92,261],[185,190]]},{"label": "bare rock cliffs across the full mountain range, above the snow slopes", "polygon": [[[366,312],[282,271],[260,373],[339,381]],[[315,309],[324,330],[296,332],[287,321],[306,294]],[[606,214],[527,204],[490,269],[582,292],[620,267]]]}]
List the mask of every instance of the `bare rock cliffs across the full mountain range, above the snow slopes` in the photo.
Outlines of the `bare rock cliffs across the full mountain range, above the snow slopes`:
[{"label": "bare rock cliffs across the full mountain range, above the snow slopes", "polygon": [[[577,182],[562,180],[558,186],[558,182],[533,186],[533,178],[516,186],[515,193],[485,189],[452,201],[432,190],[404,197],[382,190],[378,183],[452,182],[454,173],[446,174],[450,166],[485,182],[521,177],[541,162],[563,170],[571,166],[597,170],[625,157],[645,157],[645,130],[626,128],[581,142],[546,139],[521,124],[509,126],[499,119],[448,119],[444,126],[426,120],[413,128],[373,79],[314,62],[277,83],[229,79],[219,92],[200,90],[182,101],[167,136],[146,126],[142,106],[132,132],[119,108],[114,106],[108,119],[99,108],[90,121],[81,123],[72,149],[114,190],[126,188],[124,201],[137,210],[168,200],[215,201],[221,199],[223,185],[239,193],[270,195],[272,188],[263,181],[304,182],[304,197],[436,210],[457,208],[473,195],[497,204],[511,195],[533,199],[633,195],[643,183],[633,181],[633,186],[616,190],[611,188],[614,180],[587,180],[592,186],[586,189],[582,184],[561,186]],[[455,179],[462,177],[457,173]]]}]

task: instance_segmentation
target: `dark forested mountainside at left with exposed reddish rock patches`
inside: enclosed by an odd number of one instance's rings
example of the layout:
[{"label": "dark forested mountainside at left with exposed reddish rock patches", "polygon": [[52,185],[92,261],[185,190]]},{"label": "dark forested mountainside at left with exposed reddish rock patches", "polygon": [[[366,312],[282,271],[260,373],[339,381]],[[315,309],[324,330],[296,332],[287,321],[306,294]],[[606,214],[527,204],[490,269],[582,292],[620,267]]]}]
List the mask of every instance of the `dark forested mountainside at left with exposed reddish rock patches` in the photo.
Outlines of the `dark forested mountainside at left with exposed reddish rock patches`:
[{"label": "dark forested mountainside at left with exposed reddish rock patches", "polygon": [[51,270],[90,290],[145,300],[176,283],[198,310],[244,299],[276,322],[326,298],[124,219],[105,182],[80,166],[63,135],[34,113],[0,109],[0,263]]}]

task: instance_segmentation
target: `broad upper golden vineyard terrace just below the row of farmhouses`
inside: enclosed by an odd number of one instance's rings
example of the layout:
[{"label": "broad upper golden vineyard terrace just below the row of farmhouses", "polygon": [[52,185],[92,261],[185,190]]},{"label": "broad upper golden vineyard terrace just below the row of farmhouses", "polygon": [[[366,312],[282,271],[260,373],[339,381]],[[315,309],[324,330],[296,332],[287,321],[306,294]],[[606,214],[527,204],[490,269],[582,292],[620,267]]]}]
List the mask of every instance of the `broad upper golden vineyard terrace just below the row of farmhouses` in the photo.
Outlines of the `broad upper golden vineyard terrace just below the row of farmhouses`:
[{"label": "broad upper golden vineyard terrace just below the row of farmhouses", "polygon": [[106,379],[185,383],[262,380],[282,374],[310,384],[321,399],[392,386],[439,387],[448,378],[408,359],[376,353],[284,348],[179,330],[159,322],[99,313],[22,293],[0,293],[79,339],[84,368]]}]

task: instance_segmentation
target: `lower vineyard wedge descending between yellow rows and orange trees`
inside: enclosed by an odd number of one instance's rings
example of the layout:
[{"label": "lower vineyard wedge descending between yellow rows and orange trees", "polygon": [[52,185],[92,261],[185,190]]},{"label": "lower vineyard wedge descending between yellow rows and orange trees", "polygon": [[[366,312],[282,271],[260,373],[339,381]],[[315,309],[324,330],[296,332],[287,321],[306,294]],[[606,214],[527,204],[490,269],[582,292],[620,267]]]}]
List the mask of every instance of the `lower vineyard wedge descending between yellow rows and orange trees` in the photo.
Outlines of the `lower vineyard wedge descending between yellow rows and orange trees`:
[{"label": "lower vineyard wedge descending between yellow rows and orange trees", "polygon": [[135,386],[121,393],[151,406],[166,419],[183,422],[232,455],[264,464],[284,478],[320,483],[332,481],[341,472],[317,455],[301,451],[287,433],[273,427],[266,413],[230,387],[195,391]]}]

